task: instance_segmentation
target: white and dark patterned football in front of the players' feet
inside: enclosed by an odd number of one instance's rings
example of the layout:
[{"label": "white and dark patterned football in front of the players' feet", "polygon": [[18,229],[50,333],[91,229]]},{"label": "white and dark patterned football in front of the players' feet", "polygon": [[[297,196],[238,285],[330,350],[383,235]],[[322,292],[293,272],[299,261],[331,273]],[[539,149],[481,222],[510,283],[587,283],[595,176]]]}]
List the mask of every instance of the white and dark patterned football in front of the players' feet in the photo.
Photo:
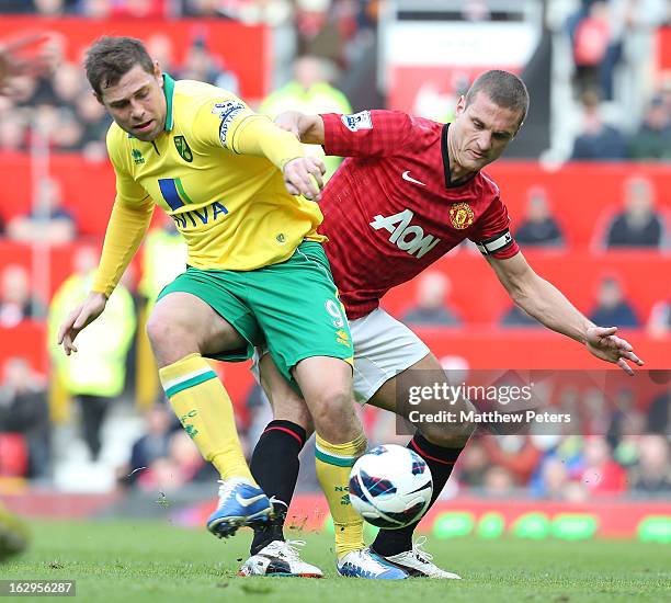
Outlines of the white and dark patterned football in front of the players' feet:
[{"label": "white and dark patterned football in front of the players' feet", "polygon": [[350,474],[350,501],[368,523],[398,528],[418,521],[431,501],[431,471],[417,453],[396,444],[372,448]]}]

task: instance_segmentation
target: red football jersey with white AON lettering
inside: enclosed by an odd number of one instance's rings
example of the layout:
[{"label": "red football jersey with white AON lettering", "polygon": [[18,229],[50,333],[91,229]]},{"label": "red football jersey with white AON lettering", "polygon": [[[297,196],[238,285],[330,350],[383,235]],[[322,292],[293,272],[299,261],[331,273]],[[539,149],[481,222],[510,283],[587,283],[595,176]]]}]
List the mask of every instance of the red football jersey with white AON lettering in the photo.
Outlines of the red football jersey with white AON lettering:
[{"label": "red football jersey with white AON lettering", "polygon": [[451,182],[448,125],[397,111],[321,117],[326,153],[346,157],[323,190],[319,231],[349,318],[466,238],[484,254],[518,253],[496,183],[482,172]]}]

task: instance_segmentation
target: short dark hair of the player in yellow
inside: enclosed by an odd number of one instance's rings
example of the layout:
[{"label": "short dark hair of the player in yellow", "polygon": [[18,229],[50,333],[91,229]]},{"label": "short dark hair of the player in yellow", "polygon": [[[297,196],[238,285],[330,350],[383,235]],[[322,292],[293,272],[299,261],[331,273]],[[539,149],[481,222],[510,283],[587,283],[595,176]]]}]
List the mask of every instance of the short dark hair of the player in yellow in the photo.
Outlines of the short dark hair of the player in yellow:
[{"label": "short dark hair of the player in yellow", "polygon": [[145,45],[135,37],[103,36],[87,52],[84,69],[93,91],[102,96],[104,88],[118,83],[130,69],[139,65],[153,73],[153,61]]}]

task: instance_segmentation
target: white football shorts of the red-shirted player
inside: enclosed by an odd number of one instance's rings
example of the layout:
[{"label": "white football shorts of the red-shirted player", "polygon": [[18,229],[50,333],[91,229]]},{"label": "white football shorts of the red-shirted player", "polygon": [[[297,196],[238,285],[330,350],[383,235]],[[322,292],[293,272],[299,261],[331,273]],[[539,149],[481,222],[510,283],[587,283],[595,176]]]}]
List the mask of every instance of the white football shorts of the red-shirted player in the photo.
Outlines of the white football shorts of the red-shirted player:
[{"label": "white football shorts of the red-shirted player", "polygon": [[[429,354],[429,348],[419,337],[382,308],[350,320],[350,332],[354,344],[354,397],[362,405],[385,382]],[[257,380],[259,357],[257,349],[251,367]]]}]

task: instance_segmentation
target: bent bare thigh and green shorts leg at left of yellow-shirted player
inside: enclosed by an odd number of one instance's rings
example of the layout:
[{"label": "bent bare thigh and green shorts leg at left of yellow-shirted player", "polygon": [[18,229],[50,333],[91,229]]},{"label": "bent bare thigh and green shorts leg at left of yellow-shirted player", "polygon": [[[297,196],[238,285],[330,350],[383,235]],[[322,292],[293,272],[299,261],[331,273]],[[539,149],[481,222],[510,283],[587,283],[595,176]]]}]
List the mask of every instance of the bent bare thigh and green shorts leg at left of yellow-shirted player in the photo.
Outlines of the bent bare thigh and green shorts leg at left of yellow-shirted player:
[{"label": "bent bare thigh and green shorts leg at left of yellow-shirted player", "polygon": [[234,362],[251,357],[262,335],[236,295],[236,287],[243,286],[236,277],[226,271],[189,269],[159,294],[147,325],[159,362],[193,352]]}]

